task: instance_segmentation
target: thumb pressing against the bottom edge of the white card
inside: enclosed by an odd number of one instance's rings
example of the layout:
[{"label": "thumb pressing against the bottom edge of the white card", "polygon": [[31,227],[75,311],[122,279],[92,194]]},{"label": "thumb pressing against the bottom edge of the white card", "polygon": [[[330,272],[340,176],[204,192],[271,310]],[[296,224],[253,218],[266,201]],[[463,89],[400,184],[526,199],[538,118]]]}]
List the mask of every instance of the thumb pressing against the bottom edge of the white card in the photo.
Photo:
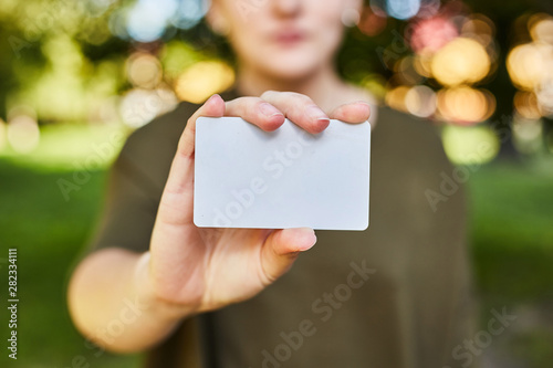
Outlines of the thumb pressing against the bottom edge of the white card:
[{"label": "thumb pressing against the bottom edge of the white card", "polygon": [[300,252],[311,249],[316,242],[313,229],[295,228],[273,231],[261,249],[261,269],[267,285],[283,275],[294,263]]}]

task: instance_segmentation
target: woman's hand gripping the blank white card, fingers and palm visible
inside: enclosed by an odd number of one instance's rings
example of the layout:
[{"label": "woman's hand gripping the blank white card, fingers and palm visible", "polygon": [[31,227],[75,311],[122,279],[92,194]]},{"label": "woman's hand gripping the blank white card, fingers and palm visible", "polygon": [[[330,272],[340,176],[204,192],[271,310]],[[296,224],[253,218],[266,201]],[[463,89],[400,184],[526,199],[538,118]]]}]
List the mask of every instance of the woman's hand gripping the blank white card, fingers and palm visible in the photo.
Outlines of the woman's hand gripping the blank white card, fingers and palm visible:
[{"label": "woman's hand gripping the blank white card, fingers and palm visible", "polygon": [[[362,123],[369,106],[358,102],[326,115],[311,98],[291,92],[223,102],[211,96],[189,119],[180,137],[142,264],[142,287],[176,317],[212,311],[252,297],[284,274],[300,252],[316,241],[309,228],[208,229],[192,222],[196,119],[240,116],[263,130],[275,130],[288,117],[312,134],[328,118]],[[138,270],[140,271],[140,270]]]}]

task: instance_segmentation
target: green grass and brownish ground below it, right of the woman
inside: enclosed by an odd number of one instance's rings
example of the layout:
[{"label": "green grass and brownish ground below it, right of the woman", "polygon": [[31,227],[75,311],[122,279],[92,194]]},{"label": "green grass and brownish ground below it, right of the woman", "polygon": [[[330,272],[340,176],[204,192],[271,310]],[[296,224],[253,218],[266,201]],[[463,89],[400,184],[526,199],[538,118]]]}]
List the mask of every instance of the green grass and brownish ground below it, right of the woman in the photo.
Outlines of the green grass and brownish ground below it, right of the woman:
[{"label": "green grass and brownish ground below it, right of the woman", "polygon": [[468,187],[480,326],[492,308],[517,316],[488,349],[500,360],[493,367],[551,367],[553,161],[494,162]]}]

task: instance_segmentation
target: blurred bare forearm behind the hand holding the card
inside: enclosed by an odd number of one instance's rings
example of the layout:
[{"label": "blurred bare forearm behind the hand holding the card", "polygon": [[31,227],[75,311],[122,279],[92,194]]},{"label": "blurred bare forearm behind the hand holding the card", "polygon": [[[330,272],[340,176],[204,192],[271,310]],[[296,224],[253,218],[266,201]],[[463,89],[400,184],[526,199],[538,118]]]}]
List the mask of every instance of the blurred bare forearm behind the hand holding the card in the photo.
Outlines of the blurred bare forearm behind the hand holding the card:
[{"label": "blurred bare forearm behind the hand holding the card", "polygon": [[108,350],[146,349],[168,336],[190,311],[157,299],[148,285],[147,259],[123,249],[105,249],[77,266],[69,286],[76,327]]}]

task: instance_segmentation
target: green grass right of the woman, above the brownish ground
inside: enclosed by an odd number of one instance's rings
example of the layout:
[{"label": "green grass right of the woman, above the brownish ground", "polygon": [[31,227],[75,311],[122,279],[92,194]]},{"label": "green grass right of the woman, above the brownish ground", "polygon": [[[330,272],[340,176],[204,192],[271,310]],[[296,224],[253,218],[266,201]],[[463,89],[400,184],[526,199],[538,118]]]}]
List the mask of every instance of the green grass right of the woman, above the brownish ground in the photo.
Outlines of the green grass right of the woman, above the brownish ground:
[{"label": "green grass right of the woman, above the brownish ground", "polygon": [[495,164],[469,181],[480,291],[507,301],[553,299],[553,161]]}]

